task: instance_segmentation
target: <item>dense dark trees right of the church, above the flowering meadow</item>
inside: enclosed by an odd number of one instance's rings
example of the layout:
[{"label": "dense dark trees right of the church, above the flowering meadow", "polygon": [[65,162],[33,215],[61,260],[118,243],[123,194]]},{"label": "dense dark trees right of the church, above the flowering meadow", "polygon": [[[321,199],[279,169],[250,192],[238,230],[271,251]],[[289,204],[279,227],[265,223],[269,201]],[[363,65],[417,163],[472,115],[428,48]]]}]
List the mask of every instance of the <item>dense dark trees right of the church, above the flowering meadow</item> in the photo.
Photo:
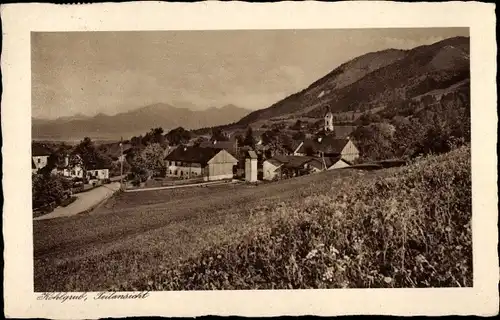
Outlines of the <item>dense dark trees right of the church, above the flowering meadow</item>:
[{"label": "dense dark trees right of the church, above the flowering meadow", "polygon": [[411,117],[359,126],[352,137],[365,160],[448,152],[470,142],[470,102],[450,93]]}]

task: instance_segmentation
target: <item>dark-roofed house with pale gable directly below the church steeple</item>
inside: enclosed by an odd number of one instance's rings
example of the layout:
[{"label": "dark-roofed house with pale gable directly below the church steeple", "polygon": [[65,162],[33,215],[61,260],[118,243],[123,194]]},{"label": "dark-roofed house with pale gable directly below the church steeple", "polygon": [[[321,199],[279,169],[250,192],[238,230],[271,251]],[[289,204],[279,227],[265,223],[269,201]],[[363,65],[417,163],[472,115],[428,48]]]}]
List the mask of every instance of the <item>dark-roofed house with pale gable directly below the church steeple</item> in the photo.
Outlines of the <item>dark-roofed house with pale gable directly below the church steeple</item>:
[{"label": "dark-roofed house with pale gable directly below the church steeple", "polygon": [[338,139],[332,136],[307,139],[299,144],[293,152],[297,156],[336,157],[352,163],[359,158],[359,150],[351,139]]}]

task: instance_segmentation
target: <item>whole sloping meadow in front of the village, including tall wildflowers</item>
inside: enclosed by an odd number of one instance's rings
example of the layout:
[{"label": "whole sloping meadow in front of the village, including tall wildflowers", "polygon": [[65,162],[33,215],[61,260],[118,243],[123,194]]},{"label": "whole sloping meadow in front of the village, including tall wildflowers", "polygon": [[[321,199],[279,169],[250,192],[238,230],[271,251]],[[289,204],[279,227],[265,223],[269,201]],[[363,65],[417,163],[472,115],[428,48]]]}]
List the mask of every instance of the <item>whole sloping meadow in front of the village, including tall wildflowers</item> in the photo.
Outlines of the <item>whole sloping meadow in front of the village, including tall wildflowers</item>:
[{"label": "whole sloping meadow in front of the village, including tall wildflowers", "polygon": [[35,291],[472,285],[469,149],[403,168],[122,193],[34,223]]}]

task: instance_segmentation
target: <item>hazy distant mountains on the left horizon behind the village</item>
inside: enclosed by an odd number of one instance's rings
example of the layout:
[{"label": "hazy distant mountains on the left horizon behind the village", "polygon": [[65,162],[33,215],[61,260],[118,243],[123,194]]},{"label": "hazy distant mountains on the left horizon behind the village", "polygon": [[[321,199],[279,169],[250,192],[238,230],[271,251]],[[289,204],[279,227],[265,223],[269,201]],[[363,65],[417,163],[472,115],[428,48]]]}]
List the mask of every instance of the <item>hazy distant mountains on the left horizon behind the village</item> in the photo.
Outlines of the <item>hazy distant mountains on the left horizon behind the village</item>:
[{"label": "hazy distant mountains on the left horizon behind the village", "polygon": [[151,128],[162,127],[166,132],[182,126],[185,129],[213,127],[238,121],[250,110],[226,105],[221,108],[191,110],[158,103],[116,115],[98,114],[93,117],[75,115],[55,120],[32,119],[34,139],[74,140],[128,139],[145,134]]}]

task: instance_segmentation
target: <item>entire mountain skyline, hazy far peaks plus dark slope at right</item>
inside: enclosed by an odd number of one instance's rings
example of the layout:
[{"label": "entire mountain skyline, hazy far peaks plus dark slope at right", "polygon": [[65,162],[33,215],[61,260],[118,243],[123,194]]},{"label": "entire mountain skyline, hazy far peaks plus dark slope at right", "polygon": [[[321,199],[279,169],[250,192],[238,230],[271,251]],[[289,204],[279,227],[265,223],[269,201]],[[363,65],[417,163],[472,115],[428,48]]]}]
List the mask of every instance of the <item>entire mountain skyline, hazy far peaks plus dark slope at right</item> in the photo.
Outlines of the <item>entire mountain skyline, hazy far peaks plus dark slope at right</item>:
[{"label": "entire mountain skyline, hazy far peaks plus dark slope at right", "polygon": [[[267,121],[321,118],[334,113],[399,108],[401,102],[426,95],[470,92],[469,38],[455,37],[411,50],[388,49],[354,58],[309,87],[268,108],[250,112],[234,105],[196,110],[189,103],[154,104],[113,116],[75,115],[57,120],[33,119],[38,139],[124,138],[153,127],[165,131],[182,126],[224,130],[260,126]],[[236,122],[236,124],[232,124]]]}]

